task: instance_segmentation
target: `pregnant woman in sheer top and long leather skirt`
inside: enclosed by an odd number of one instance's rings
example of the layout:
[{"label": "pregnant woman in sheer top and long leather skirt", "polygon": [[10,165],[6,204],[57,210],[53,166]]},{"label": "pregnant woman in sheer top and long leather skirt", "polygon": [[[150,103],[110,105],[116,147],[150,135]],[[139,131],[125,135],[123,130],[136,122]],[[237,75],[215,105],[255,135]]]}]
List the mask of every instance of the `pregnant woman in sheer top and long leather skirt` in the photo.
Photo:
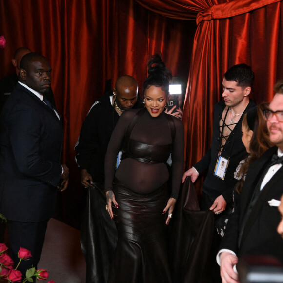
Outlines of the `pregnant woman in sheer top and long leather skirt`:
[{"label": "pregnant woman in sheer top and long leather skirt", "polygon": [[[171,72],[160,56],[149,61],[148,74],[144,108],[121,115],[105,159],[106,209],[118,229],[108,282],[171,282],[165,228],[182,180],[184,130],[182,121],[164,112]],[[122,159],[115,173],[121,147]],[[171,152],[168,195],[166,161]]]}]

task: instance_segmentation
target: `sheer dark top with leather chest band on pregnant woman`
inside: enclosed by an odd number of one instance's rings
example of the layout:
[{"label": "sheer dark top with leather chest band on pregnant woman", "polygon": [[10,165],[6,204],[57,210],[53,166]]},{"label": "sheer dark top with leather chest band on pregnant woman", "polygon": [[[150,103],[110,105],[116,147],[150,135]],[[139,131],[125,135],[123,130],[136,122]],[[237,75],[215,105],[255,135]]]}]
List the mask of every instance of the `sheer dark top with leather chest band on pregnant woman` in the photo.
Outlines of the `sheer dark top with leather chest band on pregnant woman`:
[{"label": "sheer dark top with leather chest band on pregnant woman", "polygon": [[[172,130],[166,118],[168,114],[162,113],[158,117],[152,117],[145,109],[128,139],[126,131],[138,111],[140,109],[133,109],[122,114],[113,131],[105,158],[105,190],[112,189],[115,174],[119,181],[137,193],[154,192],[169,178],[165,162],[171,148],[171,196],[177,199],[183,174],[183,123],[172,117],[175,124],[175,135],[172,141]],[[115,173],[116,158],[122,145],[123,159]],[[145,160],[139,160],[139,158]]]}]

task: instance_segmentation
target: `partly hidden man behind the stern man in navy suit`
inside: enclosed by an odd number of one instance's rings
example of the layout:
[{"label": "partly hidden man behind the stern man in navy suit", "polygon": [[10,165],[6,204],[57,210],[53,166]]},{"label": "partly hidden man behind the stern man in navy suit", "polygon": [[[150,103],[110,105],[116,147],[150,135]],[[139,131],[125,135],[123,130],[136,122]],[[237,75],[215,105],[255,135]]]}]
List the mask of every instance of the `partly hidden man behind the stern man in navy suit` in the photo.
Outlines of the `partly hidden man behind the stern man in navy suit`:
[{"label": "partly hidden man behind the stern man in navy suit", "polygon": [[[12,64],[15,67],[15,73],[8,75],[0,80],[0,115],[3,105],[5,104],[7,98],[12,93],[14,87],[18,83],[20,61],[22,57],[28,53],[32,52],[27,47],[20,47],[15,51],[14,58],[12,58]],[[46,98],[55,106],[54,95],[52,89],[46,94]]]}]

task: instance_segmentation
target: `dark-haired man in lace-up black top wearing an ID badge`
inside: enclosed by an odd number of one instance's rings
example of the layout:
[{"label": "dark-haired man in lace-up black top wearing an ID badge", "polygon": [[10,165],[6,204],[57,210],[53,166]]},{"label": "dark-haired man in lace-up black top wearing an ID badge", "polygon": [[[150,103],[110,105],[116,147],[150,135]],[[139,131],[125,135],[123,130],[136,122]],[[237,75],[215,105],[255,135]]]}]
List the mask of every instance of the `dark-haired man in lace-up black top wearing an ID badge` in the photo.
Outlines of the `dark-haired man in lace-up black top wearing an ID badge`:
[{"label": "dark-haired man in lace-up black top wearing an ID badge", "polygon": [[[182,182],[186,177],[191,177],[195,182],[199,174],[208,168],[202,186],[202,210],[210,209],[215,214],[215,222],[225,212],[226,205],[233,204],[233,188],[237,182],[234,172],[239,162],[246,158],[247,152],[241,140],[243,114],[255,103],[249,99],[251,87],[254,82],[254,72],[246,64],[234,65],[223,78],[224,101],[218,102],[214,107],[213,134],[211,148],[204,157],[183,175]],[[224,161],[225,166],[222,167]],[[227,206],[227,208],[228,208]],[[222,214],[221,214],[222,213]],[[219,215],[221,214],[221,215]],[[220,237],[214,237],[210,260],[211,271],[216,268],[215,255],[220,243]],[[215,266],[212,266],[215,264]],[[219,270],[219,269],[218,269]],[[218,279],[211,282],[220,282]]]}]

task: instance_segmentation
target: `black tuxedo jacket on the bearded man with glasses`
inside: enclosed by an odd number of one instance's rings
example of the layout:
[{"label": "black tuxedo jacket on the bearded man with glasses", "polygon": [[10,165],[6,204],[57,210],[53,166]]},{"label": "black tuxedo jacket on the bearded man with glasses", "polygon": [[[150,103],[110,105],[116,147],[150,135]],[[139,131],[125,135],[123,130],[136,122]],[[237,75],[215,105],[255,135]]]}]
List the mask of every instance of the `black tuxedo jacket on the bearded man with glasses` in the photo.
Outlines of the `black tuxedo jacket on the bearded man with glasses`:
[{"label": "black tuxedo jacket on the bearded man with glasses", "polygon": [[[283,262],[283,239],[276,231],[281,216],[278,207],[268,204],[268,201],[272,199],[280,200],[283,194],[283,166],[263,187],[245,226],[242,227],[243,218],[257,182],[274,153],[277,153],[277,147],[270,148],[251,164],[246,175],[239,204],[228,222],[227,231],[220,248],[230,249],[238,257],[250,254],[265,254],[275,256]],[[242,228],[243,235],[239,238]]]}]

